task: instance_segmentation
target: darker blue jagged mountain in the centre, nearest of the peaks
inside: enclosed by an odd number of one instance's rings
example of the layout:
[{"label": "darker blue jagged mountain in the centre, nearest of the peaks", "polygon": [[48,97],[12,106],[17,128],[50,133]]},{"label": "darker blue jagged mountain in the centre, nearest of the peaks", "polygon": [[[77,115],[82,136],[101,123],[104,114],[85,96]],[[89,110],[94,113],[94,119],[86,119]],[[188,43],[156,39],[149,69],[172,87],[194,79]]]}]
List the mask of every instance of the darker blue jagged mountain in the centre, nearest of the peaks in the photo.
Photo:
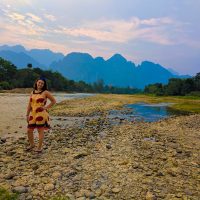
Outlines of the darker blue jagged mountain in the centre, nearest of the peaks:
[{"label": "darker blue jagged mountain in the centre, nearest of the peaks", "polygon": [[144,61],[136,66],[122,55],[115,54],[108,60],[93,58],[86,53],[70,53],[50,65],[69,79],[88,83],[103,80],[106,85],[144,88],[151,83],[167,83],[177,77],[159,64]]}]

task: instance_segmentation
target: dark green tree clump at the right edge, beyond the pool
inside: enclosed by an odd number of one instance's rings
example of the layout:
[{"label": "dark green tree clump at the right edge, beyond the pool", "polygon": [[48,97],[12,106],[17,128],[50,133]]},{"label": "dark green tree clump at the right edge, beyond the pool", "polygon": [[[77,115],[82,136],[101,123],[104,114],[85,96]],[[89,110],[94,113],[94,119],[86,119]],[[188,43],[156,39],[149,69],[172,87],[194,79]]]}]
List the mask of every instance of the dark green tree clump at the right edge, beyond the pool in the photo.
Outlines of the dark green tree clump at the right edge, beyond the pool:
[{"label": "dark green tree clump at the right edge, beyond the pool", "polygon": [[147,85],[144,93],[169,96],[200,96],[200,72],[187,79],[172,78],[168,84],[155,83]]}]

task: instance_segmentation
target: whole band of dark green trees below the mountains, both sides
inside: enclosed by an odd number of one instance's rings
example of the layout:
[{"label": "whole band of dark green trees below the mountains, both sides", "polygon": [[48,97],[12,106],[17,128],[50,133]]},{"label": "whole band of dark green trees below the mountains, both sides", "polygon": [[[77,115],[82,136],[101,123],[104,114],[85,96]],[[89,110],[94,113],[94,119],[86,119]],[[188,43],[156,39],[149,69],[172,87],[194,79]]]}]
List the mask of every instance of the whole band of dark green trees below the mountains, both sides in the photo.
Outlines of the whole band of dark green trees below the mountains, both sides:
[{"label": "whole band of dark green trees below the mountains, both sides", "polygon": [[[103,80],[98,80],[92,84],[84,81],[76,82],[65,78],[59,72],[33,68],[32,64],[27,64],[27,68],[17,69],[11,62],[0,57],[0,90],[31,88],[34,81],[41,75],[46,77],[49,89],[53,91],[113,94],[135,94],[142,92],[139,89],[131,87],[108,86],[104,84]],[[162,83],[147,85],[144,93],[157,96],[200,96],[200,73],[197,73],[192,78],[171,78],[166,85]]]}]

